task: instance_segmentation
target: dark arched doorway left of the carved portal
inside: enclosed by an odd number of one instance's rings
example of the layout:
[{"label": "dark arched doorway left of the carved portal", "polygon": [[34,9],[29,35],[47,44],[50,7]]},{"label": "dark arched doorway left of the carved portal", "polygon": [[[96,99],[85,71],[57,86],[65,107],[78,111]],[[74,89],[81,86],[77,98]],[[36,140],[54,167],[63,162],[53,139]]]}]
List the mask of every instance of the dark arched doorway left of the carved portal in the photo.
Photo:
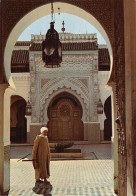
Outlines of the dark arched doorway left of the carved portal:
[{"label": "dark arched doorway left of the carved portal", "polygon": [[26,101],[20,96],[12,96],[10,108],[10,141],[11,143],[25,143],[27,139]]}]

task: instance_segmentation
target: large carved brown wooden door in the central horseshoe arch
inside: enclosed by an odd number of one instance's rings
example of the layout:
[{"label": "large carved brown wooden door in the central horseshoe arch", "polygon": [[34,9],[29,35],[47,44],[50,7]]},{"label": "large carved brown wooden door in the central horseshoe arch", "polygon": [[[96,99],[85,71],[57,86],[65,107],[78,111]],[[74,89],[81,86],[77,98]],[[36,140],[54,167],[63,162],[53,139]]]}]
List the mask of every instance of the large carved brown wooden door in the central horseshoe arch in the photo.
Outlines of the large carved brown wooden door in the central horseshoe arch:
[{"label": "large carved brown wooden door in the central horseshoe arch", "polygon": [[69,93],[56,96],[48,108],[49,140],[83,140],[82,107]]}]

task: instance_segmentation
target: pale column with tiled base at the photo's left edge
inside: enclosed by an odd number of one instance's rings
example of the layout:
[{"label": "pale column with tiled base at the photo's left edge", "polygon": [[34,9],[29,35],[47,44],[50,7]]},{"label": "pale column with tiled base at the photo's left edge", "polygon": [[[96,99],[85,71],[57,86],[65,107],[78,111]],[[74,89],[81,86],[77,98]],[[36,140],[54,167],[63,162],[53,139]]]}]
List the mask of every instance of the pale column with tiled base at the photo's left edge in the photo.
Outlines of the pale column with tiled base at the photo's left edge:
[{"label": "pale column with tiled base at the photo's left edge", "polygon": [[0,195],[10,189],[10,99],[7,87],[7,84],[0,84]]}]

